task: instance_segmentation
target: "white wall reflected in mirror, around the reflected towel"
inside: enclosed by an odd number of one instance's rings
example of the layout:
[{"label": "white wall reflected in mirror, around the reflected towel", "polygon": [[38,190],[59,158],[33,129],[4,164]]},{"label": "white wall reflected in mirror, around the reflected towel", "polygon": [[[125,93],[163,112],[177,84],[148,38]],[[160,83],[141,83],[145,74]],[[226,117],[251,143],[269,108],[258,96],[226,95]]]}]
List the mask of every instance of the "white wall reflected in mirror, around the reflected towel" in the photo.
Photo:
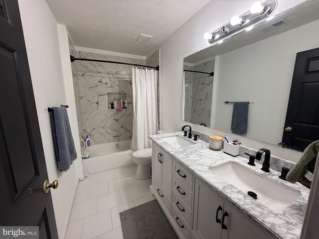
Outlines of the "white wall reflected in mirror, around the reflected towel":
[{"label": "white wall reflected in mirror, around the reflected towel", "polygon": [[[313,29],[319,29],[319,20],[216,57],[212,128],[231,132],[233,107],[223,101],[254,102],[245,136],[281,142],[296,53],[319,47],[319,31]],[[305,33],[302,41],[296,37]]]}]

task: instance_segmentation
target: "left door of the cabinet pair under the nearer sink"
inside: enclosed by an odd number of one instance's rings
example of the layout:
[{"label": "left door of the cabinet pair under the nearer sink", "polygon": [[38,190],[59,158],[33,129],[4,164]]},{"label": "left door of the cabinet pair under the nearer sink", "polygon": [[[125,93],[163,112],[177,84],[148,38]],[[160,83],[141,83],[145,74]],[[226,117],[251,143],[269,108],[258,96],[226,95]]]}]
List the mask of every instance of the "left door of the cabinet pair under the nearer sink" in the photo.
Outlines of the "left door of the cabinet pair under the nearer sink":
[{"label": "left door of the cabinet pair under the nearer sink", "polygon": [[220,239],[223,201],[197,178],[194,196],[193,233],[198,239]]}]

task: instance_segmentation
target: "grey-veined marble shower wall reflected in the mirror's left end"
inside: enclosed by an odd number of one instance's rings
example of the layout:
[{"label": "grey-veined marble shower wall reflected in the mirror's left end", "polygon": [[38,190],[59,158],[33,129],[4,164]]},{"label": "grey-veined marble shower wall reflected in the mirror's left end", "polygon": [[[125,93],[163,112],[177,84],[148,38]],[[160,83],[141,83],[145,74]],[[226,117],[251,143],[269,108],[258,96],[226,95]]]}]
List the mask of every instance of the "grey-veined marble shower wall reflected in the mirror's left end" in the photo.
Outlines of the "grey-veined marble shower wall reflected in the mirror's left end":
[{"label": "grey-veined marble shower wall reflected in the mirror's left end", "polygon": [[[184,69],[210,73],[214,66],[215,60],[211,60],[193,67],[184,66]],[[185,121],[210,126],[213,79],[208,74],[185,72]]]}]

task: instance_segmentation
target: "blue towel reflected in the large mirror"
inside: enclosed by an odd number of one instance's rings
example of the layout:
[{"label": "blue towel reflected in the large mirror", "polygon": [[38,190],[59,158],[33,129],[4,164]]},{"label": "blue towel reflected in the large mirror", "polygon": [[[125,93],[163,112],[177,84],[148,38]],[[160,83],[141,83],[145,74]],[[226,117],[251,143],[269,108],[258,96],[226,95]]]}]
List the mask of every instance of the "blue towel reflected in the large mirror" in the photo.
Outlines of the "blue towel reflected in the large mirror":
[{"label": "blue towel reflected in the large mirror", "polygon": [[247,133],[249,102],[235,102],[233,117],[231,120],[231,131],[237,134]]}]

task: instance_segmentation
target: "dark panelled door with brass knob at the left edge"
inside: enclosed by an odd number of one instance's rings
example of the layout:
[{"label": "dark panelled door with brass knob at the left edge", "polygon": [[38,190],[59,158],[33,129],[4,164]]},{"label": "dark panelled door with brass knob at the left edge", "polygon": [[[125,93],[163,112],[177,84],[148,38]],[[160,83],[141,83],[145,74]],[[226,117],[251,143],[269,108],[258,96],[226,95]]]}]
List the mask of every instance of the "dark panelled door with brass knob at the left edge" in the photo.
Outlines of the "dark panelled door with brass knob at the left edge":
[{"label": "dark panelled door with brass knob at the left edge", "polygon": [[0,226],[57,239],[17,0],[0,0],[0,102]]}]

